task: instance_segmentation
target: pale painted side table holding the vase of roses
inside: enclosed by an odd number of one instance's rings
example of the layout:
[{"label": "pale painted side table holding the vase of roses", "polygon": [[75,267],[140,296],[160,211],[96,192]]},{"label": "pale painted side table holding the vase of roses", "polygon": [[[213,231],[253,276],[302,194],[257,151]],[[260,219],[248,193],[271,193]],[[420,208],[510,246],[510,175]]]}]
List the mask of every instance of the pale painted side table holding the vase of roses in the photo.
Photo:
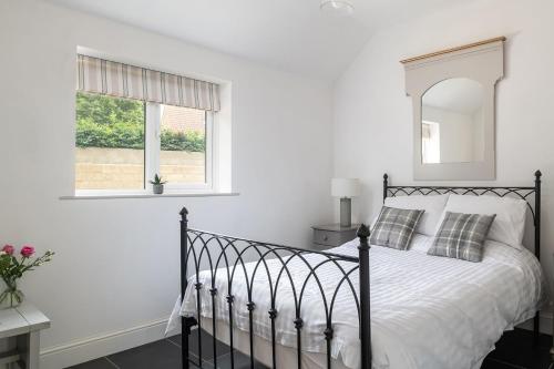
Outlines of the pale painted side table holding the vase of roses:
[{"label": "pale painted side table holding the vase of roses", "polygon": [[31,304],[0,310],[0,368],[38,369],[40,331],[49,327],[50,319]]}]

